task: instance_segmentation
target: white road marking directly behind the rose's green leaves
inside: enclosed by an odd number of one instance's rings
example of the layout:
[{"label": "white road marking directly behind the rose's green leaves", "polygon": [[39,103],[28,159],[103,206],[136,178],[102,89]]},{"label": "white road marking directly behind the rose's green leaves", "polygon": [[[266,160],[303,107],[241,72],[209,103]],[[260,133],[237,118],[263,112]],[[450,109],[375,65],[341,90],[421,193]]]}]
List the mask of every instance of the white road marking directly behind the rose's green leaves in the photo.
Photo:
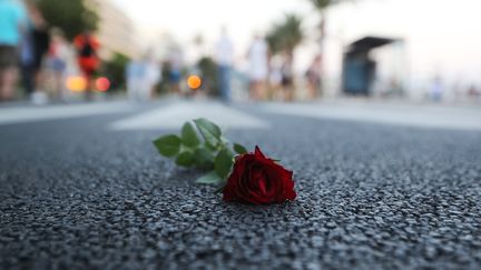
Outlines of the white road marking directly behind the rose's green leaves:
[{"label": "white road marking directly behind the rose's green leaves", "polygon": [[112,122],[111,130],[178,129],[185,121],[207,118],[222,128],[265,129],[269,123],[218,102],[176,102]]}]

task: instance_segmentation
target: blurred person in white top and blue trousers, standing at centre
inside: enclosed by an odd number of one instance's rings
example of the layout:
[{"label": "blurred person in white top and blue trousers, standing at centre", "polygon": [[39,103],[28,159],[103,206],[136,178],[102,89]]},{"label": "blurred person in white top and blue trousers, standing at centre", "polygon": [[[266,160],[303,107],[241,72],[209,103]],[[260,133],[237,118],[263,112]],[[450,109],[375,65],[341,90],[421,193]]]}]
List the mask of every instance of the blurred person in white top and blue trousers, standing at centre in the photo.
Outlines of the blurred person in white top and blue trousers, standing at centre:
[{"label": "blurred person in white top and blue trousers, standing at centre", "polygon": [[223,28],[220,39],[216,44],[216,63],[218,69],[219,90],[222,99],[230,101],[230,69],[233,63],[233,43],[227,34],[227,29]]}]

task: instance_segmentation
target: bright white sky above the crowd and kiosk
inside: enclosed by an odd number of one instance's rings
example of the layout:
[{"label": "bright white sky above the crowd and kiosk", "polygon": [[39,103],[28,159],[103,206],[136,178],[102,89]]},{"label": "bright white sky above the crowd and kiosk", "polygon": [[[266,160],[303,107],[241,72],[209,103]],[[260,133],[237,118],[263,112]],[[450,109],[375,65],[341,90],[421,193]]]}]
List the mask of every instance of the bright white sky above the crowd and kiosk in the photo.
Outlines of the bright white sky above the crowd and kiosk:
[{"label": "bright white sky above the crowd and kiosk", "polygon": [[[304,17],[307,40],[297,50],[297,68],[315,51],[318,21],[307,0],[111,0],[132,18],[147,42],[169,32],[180,44],[202,33],[214,43],[227,26],[238,59],[255,31],[286,12]],[[365,34],[405,39],[412,78],[439,73],[450,80],[481,82],[481,0],[357,0],[328,13],[328,72],[338,72],[342,46]],[[154,34],[156,33],[156,34]],[[158,39],[160,37],[158,36]]]}]

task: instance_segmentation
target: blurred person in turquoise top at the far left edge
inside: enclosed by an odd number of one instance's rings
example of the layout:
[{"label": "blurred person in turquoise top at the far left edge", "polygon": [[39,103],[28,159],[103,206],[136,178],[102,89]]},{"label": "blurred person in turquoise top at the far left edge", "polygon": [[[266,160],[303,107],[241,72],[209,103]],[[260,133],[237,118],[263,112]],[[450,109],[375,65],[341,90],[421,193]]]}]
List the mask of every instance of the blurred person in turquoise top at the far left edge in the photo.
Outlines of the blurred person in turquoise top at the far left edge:
[{"label": "blurred person in turquoise top at the far left edge", "polygon": [[18,77],[18,49],[27,11],[17,0],[0,0],[0,101],[13,98]]}]

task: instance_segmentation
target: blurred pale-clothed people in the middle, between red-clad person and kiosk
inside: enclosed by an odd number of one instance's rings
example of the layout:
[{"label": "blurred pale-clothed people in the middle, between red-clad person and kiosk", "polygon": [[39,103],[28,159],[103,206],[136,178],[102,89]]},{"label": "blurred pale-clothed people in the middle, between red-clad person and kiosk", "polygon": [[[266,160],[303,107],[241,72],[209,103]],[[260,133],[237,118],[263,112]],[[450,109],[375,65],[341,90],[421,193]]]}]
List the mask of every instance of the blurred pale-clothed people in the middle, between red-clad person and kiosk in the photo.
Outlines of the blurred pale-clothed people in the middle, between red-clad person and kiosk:
[{"label": "blurred pale-clothed people in the middle, between red-clad person and kiosk", "polygon": [[[212,51],[213,53],[206,53]],[[222,28],[217,41],[212,50],[196,50],[198,58],[190,66],[186,63],[184,51],[179,46],[171,46],[164,61],[158,61],[154,50],[147,50],[138,60],[131,60],[126,67],[126,80],[128,97],[132,100],[146,101],[154,98],[157,86],[164,83],[171,94],[192,96],[202,94],[203,91],[188,89],[181,83],[189,74],[198,74],[208,84],[207,91],[214,88],[212,81],[216,81],[217,96],[224,101],[233,99],[233,77],[242,70],[239,59],[234,52],[234,43],[230,40],[227,29]],[[215,64],[214,78],[205,74],[203,60],[212,59]],[[304,81],[310,98],[316,98],[321,87],[322,59],[316,56],[305,71]],[[246,81],[248,98],[255,101],[262,100],[285,100],[295,99],[295,72],[294,56],[289,51],[272,53],[265,39],[256,34],[248,47],[245,59],[245,76],[240,79]],[[236,66],[236,67],[235,67]],[[204,92],[205,94],[205,92]]]}]

